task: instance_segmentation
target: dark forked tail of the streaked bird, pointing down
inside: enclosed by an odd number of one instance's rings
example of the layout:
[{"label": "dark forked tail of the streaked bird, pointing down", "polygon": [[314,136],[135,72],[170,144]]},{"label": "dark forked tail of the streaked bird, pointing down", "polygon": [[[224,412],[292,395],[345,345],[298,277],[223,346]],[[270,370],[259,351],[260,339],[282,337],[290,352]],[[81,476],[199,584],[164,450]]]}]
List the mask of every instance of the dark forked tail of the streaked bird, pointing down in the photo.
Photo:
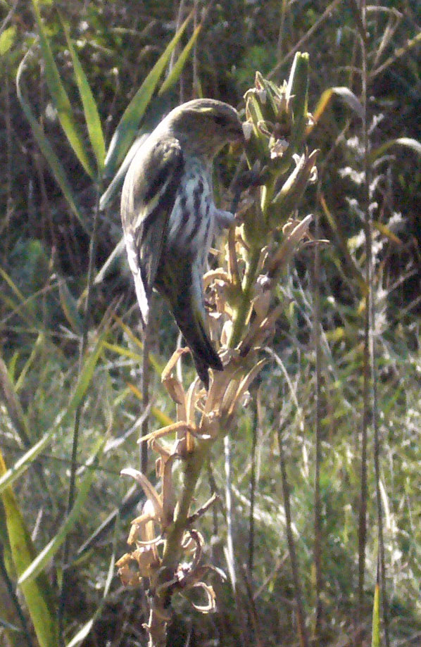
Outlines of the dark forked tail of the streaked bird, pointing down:
[{"label": "dark forked tail of the streaked bird, pointing down", "polygon": [[175,321],[189,346],[197,374],[206,387],[209,387],[208,369],[222,371],[220,356],[215,351],[206,332],[205,321],[201,310],[189,296],[184,296],[172,307]]}]

